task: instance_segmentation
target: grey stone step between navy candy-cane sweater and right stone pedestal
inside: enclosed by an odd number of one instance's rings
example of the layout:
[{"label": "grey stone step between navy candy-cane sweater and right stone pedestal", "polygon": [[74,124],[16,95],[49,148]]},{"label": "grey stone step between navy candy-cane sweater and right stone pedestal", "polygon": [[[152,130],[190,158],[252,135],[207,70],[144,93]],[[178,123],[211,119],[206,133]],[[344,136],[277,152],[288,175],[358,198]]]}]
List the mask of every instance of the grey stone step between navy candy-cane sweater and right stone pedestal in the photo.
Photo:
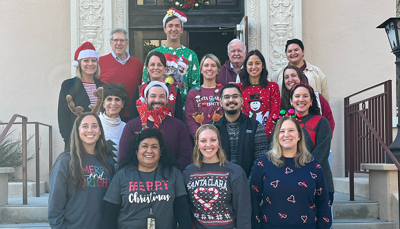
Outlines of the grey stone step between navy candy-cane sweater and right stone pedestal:
[{"label": "grey stone step between navy candy-cane sweater and right stone pedestal", "polygon": [[379,219],[379,203],[363,197],[354,197],[334,192],[333,219]]}]

